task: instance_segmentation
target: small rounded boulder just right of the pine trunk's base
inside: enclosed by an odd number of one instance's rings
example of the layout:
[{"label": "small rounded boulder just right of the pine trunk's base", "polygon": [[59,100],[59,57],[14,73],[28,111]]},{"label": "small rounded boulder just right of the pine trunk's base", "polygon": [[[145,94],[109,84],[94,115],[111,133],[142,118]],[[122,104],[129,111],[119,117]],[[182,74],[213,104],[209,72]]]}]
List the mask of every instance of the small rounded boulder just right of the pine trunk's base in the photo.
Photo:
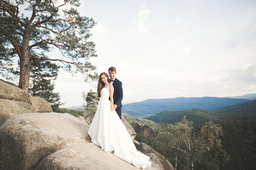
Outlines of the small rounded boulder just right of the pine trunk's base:
[{"label": "small rounded boulder just right of the pine trunk's base", "polygon": [[34,96],[30,96],[29,98],[37,113],[53,112],[53,109],[46,99]]}]

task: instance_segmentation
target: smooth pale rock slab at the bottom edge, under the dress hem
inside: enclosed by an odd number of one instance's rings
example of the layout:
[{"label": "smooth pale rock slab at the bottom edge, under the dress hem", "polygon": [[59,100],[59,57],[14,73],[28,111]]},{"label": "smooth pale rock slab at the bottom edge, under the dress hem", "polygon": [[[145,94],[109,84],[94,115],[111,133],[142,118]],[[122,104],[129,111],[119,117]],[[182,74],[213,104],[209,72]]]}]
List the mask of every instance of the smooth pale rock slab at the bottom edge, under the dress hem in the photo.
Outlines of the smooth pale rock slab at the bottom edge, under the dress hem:
[{"label": "smooth pale rock slab at the bottom edge, under the dress hem", "polygon": [[82,142],[66,147],[43,159],[36,170],[80,169],[80,170],[137,170],[112,152],[104,152],[92,143]]}]

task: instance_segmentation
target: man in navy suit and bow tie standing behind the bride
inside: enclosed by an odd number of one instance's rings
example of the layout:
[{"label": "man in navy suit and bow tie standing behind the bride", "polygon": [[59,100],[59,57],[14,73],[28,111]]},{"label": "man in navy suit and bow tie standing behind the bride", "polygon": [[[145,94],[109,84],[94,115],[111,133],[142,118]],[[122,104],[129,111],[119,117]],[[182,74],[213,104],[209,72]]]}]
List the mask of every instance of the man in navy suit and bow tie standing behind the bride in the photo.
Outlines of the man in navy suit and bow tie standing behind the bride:
[{"label": "man in navy suit and bow tie standing behind the bride", "polygon": [[122,98],[123,98],[123,92],[122,92],[122,82],[119,81],[119,79],[115,78],[117,74],[117,69],[114,67],[110,67],[108,69],[109,75],[110,75],[110,84],[113,85],[114,87],[114,108],[115,111],[117,112],[117,115],[119,118],[122,118]]}]

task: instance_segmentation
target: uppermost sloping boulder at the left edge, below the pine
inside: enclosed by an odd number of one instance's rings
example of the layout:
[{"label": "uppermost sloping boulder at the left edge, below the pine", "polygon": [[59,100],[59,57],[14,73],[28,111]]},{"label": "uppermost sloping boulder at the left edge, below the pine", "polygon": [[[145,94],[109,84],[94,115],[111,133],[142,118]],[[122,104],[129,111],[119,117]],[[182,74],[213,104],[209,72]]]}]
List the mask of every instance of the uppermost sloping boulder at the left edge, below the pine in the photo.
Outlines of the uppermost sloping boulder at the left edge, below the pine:
[{"label": "uppermost sloping boulder at the left edge, below the pine", "polygon": [[22,101],[31,104],[26,91],[19,89],[17,86],[0,79],[0,98],[11,101]]}]

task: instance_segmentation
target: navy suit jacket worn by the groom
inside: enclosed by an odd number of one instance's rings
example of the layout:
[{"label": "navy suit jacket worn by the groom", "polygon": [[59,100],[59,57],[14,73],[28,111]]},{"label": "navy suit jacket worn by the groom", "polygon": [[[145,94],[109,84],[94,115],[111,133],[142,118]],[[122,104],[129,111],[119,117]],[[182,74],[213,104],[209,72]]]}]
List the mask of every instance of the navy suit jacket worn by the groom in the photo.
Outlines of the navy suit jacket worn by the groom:
[{"label": "navy suit jacket worn by the groom", "polygon": [[122,108],[122,98],[123,98],[123,91],[122,91],[122,82],[119,79],[115,78],[113,82],[114,87],[114,104],[116,104],[119,108]]}]

